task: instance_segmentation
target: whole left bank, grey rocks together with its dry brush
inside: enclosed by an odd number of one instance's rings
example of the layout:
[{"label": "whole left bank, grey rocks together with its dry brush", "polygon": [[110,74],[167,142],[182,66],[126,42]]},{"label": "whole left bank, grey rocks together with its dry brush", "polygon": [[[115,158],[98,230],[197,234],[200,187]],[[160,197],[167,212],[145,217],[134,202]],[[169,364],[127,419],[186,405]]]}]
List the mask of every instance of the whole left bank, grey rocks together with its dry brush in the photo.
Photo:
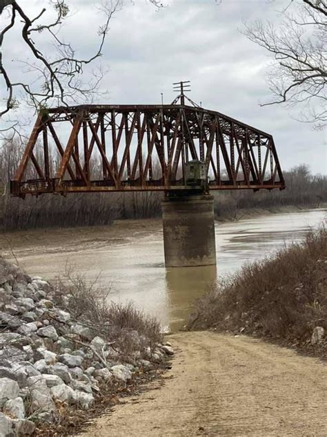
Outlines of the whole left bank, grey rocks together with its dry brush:
[{"label": "whole left bank, grey rocks together with its dry brush", "polygon": [[0,257],[0,436],[66,436],[137,393],[174,354],[159,323],[81,278],[29,277]]}]

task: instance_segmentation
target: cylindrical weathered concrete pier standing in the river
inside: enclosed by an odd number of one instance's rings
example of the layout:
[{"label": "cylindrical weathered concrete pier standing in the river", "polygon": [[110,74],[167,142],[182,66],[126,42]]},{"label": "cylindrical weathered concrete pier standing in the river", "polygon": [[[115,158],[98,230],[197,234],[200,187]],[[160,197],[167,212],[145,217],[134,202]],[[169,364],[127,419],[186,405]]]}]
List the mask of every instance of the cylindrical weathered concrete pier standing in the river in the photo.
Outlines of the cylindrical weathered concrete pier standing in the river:
[{"label": "cylindrical weathered concrete pier standing in the river", "polygon": [[166,197],[161,205],[166,266],[215,265],[213,196]]}]

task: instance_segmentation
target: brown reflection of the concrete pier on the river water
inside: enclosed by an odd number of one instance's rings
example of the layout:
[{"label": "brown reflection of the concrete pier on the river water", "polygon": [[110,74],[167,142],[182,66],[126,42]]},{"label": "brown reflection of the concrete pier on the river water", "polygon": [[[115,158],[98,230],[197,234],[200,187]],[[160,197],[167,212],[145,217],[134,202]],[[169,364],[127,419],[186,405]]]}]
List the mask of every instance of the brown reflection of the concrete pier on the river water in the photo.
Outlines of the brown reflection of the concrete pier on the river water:
[{"label": "brown reflection of the concrete pier on the river water", "polygon": [[170,330],[185,324],[192,302],[217,281],[216,266],[166,268]]}]

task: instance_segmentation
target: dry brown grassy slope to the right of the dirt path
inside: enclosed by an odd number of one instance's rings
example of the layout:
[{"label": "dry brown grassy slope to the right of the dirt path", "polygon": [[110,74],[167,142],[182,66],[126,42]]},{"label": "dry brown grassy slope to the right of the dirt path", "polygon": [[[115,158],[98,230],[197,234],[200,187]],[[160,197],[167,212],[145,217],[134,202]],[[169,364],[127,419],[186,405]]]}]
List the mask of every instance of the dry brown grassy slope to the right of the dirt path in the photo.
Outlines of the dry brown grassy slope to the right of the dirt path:
[{"label": "dry brown grassy slope to the right of the dirt path", "polygon": [[[244,266],[197,301],[189,328],[309,344],[315,326],[327,332],[326,243],[320,227],[303,243]],[[319,348],[327,351],[326,344]]]}]

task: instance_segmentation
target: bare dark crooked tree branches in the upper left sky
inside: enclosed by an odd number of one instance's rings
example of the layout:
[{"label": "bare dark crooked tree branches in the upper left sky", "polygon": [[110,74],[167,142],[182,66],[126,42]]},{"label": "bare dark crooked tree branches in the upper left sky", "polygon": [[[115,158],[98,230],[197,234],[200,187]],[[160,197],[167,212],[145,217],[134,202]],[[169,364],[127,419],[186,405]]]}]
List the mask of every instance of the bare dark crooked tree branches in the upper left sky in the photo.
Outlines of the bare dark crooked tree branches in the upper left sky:
[{"label": "bare dark crooked tree branches in the upper left sky", "polygon": [[[25,3],[25,4],[24,4]],[[0,120],[19,105],[21,97],[37,110],[46,108],[50,104],[76,104],[90,101],[99,89],[99,82],[103,77],[103,70],[98,66],[90,75],[83,75],[84,69],[101,57],[101,51],[109,30],[112,15],[123,6],[124,0],[100,1],[98,11],[103,17],[103,24],[98,29],[99,45],[87,58],[77,55],[77,50],[61,37],[61,30],[70,15],[69,0],[50,0],[50,8],[42,8],[32,16],[30,2],[19,0],[0,0],[0,89],[6,95],[0,96]],[[162,7],[157,0],[150,3]],[[19,28],[19,43],[30,53],[30,60],[20,62],[25,66],[21,80],[14,79],[10,68],[10,32]],[[81,32],[83,35],[83,32]],[[84,33],[85,42],[89,39],[88,31]],[[2,51],[4,43],[6,49]],[[81,41],[83,44],[84,41]],[[45,48],[45,43],[48,45]],[[49,50],[49,44],[51,48]],[[26,74],[27,73],[27,74]],[[4,85],[1,84],[4,82]],[[16,123],[10,127],[0,127],[0,131],[16,131]]]}]

